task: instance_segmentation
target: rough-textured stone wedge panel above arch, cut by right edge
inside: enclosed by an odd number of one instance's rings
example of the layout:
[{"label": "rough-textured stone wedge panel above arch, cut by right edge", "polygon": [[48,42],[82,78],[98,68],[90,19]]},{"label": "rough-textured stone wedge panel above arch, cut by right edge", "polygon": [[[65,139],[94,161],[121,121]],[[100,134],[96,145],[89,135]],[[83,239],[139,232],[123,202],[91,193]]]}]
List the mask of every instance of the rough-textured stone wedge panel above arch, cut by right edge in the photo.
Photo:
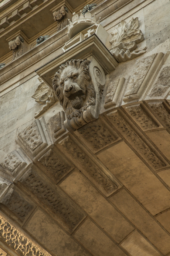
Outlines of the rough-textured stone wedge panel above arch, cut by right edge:
[{"label": "rough-textured stone wedge panel above arch, cut by right edge", "polygon": [[150,97],[163,96],[164,93],[168,92],[170,88],[170,66],[164,67],[158,78],[156,79],[152,91],[150,92]]}]

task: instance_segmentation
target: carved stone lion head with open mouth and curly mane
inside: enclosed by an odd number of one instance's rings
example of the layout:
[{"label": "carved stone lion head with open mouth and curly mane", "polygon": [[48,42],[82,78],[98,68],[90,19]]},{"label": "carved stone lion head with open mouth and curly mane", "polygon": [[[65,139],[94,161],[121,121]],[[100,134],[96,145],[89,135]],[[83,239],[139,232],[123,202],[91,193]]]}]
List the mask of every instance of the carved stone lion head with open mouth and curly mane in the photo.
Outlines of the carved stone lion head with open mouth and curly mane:
[{"label": "carved stone lion head with open mouth and curly mane", "polygon": [[95,105],[95,90],[89,76],[89,60],[70,60],[61,65],[52,86],[67,119],[80,117],[88,106]]}]

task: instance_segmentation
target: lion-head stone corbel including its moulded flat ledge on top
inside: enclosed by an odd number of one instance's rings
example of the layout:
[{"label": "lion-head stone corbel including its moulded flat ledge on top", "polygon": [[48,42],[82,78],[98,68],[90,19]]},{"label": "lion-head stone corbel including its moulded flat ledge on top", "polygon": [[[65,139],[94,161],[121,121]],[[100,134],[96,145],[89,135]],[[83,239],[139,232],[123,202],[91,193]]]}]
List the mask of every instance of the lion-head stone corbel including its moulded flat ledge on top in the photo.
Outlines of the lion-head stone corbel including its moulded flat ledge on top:
[{"label": "lion-head stone corbel including its moulded flat ledge on top", "polygon": [[66,114],[68,131],[99,117],[105,75],[116,66],[116,60],[94,34],[36,70],[54,89]]}]

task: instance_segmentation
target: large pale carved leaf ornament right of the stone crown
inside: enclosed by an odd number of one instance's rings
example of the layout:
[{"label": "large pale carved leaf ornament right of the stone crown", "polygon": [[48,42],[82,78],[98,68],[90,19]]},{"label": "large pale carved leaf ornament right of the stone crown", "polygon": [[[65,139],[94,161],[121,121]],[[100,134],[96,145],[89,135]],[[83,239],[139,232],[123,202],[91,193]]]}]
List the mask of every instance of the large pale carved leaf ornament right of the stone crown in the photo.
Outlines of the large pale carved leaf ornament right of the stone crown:
[{"label": "large pale carved leaf ornament right of the stone crown", "polygon": [[[146,51],[146,47],[136,50],[137,44],[144,40],[143,33],[139,28],[138,17],[132,18],[129,23],[122,20],[111,35],[109,50],[118,62],[125,62],[142,55]],[[131,52],[133,51],[133,52]]]}]

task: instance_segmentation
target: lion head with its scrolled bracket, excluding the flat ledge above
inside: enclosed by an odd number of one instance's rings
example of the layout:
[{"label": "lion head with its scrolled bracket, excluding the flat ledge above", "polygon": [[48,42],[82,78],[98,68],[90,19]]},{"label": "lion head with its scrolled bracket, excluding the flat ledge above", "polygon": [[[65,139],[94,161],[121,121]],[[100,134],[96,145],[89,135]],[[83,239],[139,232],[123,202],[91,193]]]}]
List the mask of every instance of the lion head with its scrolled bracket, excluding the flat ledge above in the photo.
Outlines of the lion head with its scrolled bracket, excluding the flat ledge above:
[{"label": "lion head with its scrolled bracket, excluding the flat ledge above", "polygon": [[75,131],[98,118],[105,74],[93,57],[70,60],[60,66],[52,82],[62,105],[69,131]]}]

